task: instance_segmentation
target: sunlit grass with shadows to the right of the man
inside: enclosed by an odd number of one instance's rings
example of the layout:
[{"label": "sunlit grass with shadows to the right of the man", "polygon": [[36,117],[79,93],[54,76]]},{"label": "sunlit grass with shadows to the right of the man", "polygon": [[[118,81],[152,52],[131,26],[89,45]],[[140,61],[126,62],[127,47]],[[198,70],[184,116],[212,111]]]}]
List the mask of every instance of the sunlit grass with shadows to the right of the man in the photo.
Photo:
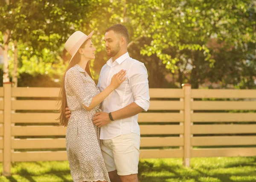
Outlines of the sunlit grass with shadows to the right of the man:
[{"label": "sunlit grass with shadows to the right of the man", "polygon": [[[154,166],[154,162],[140,162],[139,163],[139,180],[140,182],[166,182],[168,181],[185,181],[193,180],[194,182],[210,182],[212,181],[209,178],[214,178],[215,180],[221,182],[238,182],[237,180],[232,180],[232,176],[244,177],[242,182],[253,182],[253,179],[247,180],[247,176],[256,176],[256,171],[244,171],[241,170],[236,173],[228,172],[229,168],[238,168],[238,167],[255,167],[256,168],[256,157],[252,162],[238,162],[236,164],[227,164],[220,169],[211,168],[186,168],[182,165],[167,165],[165,162],[161,162],[159,165]],[[214,173],[209,170],[216,170]],[[223,173],[223,170],[227,170],[226,173]],[[205,178],[205,179],[204,179]],[[207,179],[208,178],[208,179]]]}]

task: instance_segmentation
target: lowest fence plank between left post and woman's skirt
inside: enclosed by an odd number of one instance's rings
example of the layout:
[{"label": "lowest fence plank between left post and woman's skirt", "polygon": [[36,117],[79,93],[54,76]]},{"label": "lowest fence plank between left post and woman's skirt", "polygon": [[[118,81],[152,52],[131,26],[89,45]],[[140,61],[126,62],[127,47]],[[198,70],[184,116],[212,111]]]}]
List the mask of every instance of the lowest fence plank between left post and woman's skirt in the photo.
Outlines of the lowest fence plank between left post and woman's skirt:
[{"label": "lowest fence plank between left post and woman's skirt", "polygon": [[38,152],[13,152],[12,162],[52,161],[67,160],[66,151],[38,151]]}]

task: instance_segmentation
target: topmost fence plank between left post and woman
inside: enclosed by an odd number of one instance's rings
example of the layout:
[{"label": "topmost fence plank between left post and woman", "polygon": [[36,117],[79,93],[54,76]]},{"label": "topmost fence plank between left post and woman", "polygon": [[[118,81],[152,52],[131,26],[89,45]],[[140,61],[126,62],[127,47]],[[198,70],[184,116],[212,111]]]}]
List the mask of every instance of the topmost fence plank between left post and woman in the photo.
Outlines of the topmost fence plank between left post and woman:
[{"label": "topmost fence plank between left post and woman", "polygon": [[12,97],[58,97],[60,88],[17,87],[12,88]]}]

